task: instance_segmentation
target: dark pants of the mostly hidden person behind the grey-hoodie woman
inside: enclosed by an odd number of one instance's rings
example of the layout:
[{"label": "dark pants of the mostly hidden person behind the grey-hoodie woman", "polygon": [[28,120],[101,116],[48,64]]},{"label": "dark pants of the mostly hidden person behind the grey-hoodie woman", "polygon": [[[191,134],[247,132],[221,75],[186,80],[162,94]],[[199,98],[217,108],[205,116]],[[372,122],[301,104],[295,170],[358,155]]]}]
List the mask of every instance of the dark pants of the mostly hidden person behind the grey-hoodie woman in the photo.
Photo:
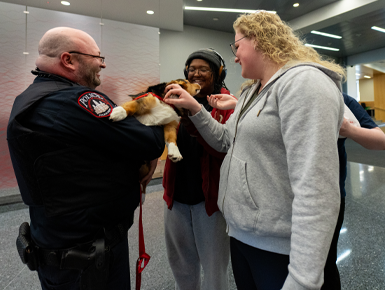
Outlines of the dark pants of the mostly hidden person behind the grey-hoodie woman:
[{"label": "dark pants of the mostly hidden person behind the grey-hoodie woman", "polygon": [[338,215],[336,229],[334,231],[332,244],[326,260],[324,269],[324,284],[321,290],[341,290],[340,273],[338,272],[337,261],[337,244],[340,236],[342,223],[345,214],[345,198],[341,198],[340,213]]}]

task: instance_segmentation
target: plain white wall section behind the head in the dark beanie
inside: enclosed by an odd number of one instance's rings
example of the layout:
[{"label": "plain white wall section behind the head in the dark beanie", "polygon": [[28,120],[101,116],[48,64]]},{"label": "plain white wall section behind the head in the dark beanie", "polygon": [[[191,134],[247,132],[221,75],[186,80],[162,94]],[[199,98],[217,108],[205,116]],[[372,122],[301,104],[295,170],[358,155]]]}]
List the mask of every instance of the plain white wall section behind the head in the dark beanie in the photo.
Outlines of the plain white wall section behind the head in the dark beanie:
[{"label": "plain white wall section behind the head in the dark beanie", "polygon": [[224,59],[227,68],[225,83],[232,94],[236,94],[245,81],[241,76],[241,66],[234,63],[234,55],[230,43],[234,42],[234,34],[184,26],[183,32],[160,31],[160,81],[168,82],[184,78],[183,68],[187,57],[194,51],[211,47]]}]

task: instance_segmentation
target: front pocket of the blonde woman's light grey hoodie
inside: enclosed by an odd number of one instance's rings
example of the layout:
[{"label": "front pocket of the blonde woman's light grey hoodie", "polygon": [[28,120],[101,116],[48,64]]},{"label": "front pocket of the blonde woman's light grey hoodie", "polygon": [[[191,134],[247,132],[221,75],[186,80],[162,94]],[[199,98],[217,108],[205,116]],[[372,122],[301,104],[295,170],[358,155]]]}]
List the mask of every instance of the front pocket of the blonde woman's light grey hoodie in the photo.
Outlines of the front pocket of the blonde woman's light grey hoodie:
[{"label": "front pocket of the blonde woman's light grey hoodie", "polygon": [[228,176],[224,176],[227,184],[227,194],[224,200],[226,221],[238,230],[254,232],[259,217],[259,208],[251,198],[246,173],[247,163],[233,155],[231,164],[228,166],[230,165],[230,172],[226,174]]}]

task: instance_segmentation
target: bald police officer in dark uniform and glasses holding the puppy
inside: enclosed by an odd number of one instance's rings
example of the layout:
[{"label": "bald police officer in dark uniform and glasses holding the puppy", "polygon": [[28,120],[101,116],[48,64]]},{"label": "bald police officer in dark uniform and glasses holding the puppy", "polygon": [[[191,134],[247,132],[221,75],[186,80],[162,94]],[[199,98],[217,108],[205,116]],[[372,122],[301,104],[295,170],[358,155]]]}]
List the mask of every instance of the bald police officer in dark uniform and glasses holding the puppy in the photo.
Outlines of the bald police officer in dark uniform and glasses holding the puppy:
[{"label": "bald police officer in dark uniform and glasses holding the puppy", "polygon": [[38,51],[36,78],[16,97],[7,130],[30,213],[19,254],[43,290],[128,290],[139,168],[162,154],[163,129],[109,120],[116,105],[96,90],[106,63],[87,33],[53,28]]}]

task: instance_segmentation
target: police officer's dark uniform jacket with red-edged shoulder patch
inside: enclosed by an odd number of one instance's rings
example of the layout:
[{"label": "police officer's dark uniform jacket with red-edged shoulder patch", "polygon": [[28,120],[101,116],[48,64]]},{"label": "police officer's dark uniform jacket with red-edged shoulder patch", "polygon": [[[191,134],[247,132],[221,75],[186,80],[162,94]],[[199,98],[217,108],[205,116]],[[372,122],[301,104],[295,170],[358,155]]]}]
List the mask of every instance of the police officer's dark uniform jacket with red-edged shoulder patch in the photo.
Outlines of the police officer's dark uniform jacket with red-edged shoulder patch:
[{"label": "police officer's dark uniform jacket with red-edged shoulder patch", "polygon": [[164,149],[161,127],[128,117],[103,93],[43,72],[15,99],[7,139],[38,246],[67,248],[132,224],[138,169]]}]

